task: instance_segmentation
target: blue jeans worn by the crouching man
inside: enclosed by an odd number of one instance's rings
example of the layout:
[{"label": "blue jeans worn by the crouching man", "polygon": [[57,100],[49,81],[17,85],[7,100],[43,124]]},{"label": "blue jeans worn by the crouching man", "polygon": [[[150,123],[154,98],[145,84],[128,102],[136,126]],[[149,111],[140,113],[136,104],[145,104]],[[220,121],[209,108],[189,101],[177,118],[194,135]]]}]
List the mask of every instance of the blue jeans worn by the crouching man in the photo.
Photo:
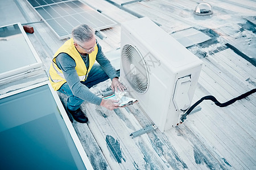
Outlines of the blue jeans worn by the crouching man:
[{"label": "blue jeans worn by the crouching man", "polygon": [[[100,82],[104,82],[107,79],[109,79],[109,76],[105,73],[102,67],[98,63],[94,63],[92,69],[89,72],[88,78],[85,80],[85,82],[81,83],[84,84],[86,87],[91,88],[94,85]],[[64,83],[58,91],[69,96],[67,101],[67,108],[70,111],[76,111],[77,109],[79,109],[80,105],[84,101],[79,97],[73,95],[71,89],[68,86],[68,83]]]}]

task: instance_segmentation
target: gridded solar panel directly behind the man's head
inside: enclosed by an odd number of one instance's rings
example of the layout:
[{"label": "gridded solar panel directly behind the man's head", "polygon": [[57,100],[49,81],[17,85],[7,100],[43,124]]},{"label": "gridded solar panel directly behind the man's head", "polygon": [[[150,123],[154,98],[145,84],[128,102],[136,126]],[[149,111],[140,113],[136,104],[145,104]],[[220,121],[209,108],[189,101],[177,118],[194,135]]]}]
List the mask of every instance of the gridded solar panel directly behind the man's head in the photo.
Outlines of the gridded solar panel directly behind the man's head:
[{"label": "gridded solar panel directly behind the man's head", "polygon": [[59,39],[70,37],[73,27],[88,24],[96,31],[117,23],[80,1],[27,0]]}]

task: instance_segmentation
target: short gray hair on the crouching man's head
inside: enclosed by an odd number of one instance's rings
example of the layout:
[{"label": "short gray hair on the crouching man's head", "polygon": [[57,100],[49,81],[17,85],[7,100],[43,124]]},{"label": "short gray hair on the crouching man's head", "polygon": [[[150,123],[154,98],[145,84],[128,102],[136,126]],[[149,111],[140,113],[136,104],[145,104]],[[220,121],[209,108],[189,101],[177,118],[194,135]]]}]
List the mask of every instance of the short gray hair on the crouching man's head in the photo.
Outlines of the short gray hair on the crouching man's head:
[{"label": "short gray hair on the crouching man's head", "polygon": [[72,38],[73,40],[78,43],[82,44],[84,42],[88,42],[92,40],[94,36],[94,29],[86,24],[77,25],[72,30]]}]

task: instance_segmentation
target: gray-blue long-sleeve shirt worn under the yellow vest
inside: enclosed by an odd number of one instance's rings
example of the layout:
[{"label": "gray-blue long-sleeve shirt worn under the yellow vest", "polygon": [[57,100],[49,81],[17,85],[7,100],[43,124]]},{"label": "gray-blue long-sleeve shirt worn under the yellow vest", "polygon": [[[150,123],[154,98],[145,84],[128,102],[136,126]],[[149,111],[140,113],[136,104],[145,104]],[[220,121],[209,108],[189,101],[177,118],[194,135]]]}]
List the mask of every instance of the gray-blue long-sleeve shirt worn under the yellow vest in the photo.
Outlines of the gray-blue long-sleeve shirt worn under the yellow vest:
[{"label": "gray-blue long-sleeve shirt worn under the yellow vest", "polygon": [[[101,65],[102,69],[109,76],[110,79],[118,76],[115,73],[113,66],[111,65],[108,58],[106,58],[105,54],[101,50],[100,44],[98,46],[98,53],[96,56],[96,61]],[[80,54],[81,55],[81,54]],[[85,65],[89,65],[89,59],[86,56],[82,56],[82,59],[85,62]],[[73,95],[79,97],[82,100],[88,101],[89,103],[93,103],[96,105],[101,104],[101,97],[96,96],[92,92],[90,92],[89,88],[84,84],[80,83],[79,76],[76,72],[76,62],[73,58],[71,58],[66,53],[60,53],[59,56],[56,57],[57,66],[63,71],[63,75],[67,80],[69,88],[71,88]]]}]

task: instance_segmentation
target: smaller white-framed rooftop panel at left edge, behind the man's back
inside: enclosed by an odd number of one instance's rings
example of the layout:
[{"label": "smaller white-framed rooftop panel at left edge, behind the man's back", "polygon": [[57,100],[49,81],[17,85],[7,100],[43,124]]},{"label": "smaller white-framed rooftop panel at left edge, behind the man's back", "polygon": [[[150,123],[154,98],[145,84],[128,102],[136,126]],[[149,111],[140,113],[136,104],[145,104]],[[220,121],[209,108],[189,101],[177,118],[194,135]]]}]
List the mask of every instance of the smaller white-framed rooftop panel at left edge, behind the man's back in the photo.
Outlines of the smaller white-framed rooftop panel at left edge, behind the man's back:
[{"label": "smaller white-framed rooftop panel at left edge, behind the man's back", "polygon": [[42,67],[20,23],[0,27],[0,82]]}]

